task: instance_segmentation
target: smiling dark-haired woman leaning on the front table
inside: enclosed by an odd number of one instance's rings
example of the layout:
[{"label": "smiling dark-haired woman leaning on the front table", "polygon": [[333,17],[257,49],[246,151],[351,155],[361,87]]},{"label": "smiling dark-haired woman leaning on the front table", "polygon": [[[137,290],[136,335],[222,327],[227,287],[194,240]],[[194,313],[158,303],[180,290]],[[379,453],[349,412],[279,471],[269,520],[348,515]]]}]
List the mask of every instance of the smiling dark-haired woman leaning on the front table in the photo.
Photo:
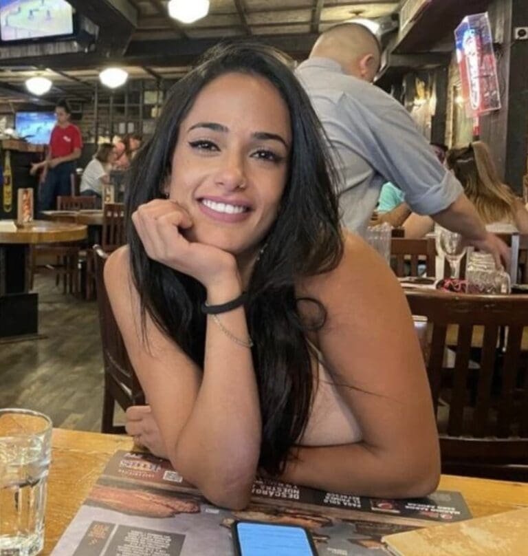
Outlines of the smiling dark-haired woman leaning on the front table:
[{"label": "smiling dark-haired woman leaning on the front table", "polygon": [[404,294],[343,236],[309,100],[267,47],[214,49],[133,162],[129,245],[105,280],[148,407],[135,440],[221,506],[256,473],[419,496],[439,478]]}]

